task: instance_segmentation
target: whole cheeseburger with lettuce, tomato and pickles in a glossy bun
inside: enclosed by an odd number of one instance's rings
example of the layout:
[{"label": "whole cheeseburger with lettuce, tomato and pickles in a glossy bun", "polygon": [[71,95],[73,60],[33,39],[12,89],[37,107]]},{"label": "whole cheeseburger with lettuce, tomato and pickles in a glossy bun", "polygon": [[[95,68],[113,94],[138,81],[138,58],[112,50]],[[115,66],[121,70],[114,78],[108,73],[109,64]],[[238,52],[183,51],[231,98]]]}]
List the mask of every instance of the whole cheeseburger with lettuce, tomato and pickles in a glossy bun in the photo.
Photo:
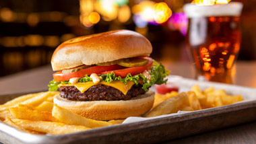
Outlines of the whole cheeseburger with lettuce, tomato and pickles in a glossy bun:
[{"label": "whole cheeseburger with lettuce, tomato and pickles in a glossy bun", "polygon": [[60,44],[53,53],[54,103],[86,118],[123,119],[152,108],[149,87],[166,83],[168,71],[150,58],[149,40],[129,30],[81,36]]}]

